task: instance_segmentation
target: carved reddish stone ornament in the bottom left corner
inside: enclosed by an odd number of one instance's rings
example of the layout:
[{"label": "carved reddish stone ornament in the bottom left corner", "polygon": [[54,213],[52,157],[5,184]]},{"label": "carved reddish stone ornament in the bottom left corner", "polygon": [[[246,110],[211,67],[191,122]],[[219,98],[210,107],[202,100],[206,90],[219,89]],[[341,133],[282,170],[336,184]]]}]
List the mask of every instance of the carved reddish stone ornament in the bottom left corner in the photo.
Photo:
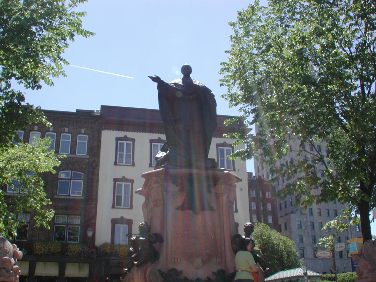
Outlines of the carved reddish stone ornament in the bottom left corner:
[{"label": "carved reddish stone ornament in the bottom left corner", "polygon": [[18,282],[20,268],[15,265],[22,252],[0,234],[0,281]]}]

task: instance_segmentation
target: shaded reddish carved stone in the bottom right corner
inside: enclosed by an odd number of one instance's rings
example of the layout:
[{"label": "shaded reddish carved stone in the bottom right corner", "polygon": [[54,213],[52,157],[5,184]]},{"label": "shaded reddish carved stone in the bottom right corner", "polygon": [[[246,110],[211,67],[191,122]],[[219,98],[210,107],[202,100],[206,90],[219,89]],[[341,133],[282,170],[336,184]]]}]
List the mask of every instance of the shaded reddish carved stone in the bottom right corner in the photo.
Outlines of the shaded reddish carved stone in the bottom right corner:
[{"label": "shaded reddish carved stone in the bottom right corner", "polygon": [[376,281],[376,245],[368,240],[357,254],[351,256],[353,261],[358,262],[356,266],[356,282]]}]

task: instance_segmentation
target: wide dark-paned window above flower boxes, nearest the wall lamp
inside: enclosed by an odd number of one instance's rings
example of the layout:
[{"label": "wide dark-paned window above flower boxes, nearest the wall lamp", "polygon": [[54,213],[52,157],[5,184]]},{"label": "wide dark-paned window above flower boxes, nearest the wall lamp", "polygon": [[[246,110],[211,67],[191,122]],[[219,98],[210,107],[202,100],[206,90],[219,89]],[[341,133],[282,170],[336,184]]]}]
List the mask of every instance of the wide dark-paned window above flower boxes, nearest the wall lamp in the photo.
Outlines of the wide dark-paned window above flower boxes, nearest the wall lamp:
[{"label": "wide dark-paned window above flower boxes, nearest the wall lamp", "polygon": [[80,238],[80,220],[81,217],[79,215],[55,215],[53,240],[78,243]]}]

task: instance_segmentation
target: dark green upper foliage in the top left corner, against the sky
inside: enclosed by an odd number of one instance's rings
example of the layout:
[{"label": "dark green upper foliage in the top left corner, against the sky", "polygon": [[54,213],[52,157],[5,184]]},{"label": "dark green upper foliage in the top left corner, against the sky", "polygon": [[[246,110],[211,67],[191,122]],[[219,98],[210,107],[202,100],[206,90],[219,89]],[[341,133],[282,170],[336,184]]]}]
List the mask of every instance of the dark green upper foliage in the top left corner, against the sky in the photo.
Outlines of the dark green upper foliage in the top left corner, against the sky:
[{"label": "dark green upper foliage in the top left corner, against the sky", "polygon": [[25,102],[18,83],[40,89],[53,85],[52,77],[66,76],[62,53],[75,35],[94,33],[82,29],[76,12],[85,0],[0,0],[0,146],[6,146],[15,130],[28,124],[47,123],[39,108]]}]

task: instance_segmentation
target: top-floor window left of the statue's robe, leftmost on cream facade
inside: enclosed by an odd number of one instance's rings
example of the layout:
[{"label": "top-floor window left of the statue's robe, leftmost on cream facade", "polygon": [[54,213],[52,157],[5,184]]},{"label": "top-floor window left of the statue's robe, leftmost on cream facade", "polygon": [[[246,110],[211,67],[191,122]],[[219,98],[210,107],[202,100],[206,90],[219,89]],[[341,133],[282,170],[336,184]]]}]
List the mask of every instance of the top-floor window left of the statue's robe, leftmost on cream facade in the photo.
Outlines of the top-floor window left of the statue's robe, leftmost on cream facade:
[{"label": "top-floor window left of the statue's robe, leftmost on cream facade", "polygon": [[114,165],[135,165],[135,140],[134,138],[127,137],[127,135],[115,138]]}]

